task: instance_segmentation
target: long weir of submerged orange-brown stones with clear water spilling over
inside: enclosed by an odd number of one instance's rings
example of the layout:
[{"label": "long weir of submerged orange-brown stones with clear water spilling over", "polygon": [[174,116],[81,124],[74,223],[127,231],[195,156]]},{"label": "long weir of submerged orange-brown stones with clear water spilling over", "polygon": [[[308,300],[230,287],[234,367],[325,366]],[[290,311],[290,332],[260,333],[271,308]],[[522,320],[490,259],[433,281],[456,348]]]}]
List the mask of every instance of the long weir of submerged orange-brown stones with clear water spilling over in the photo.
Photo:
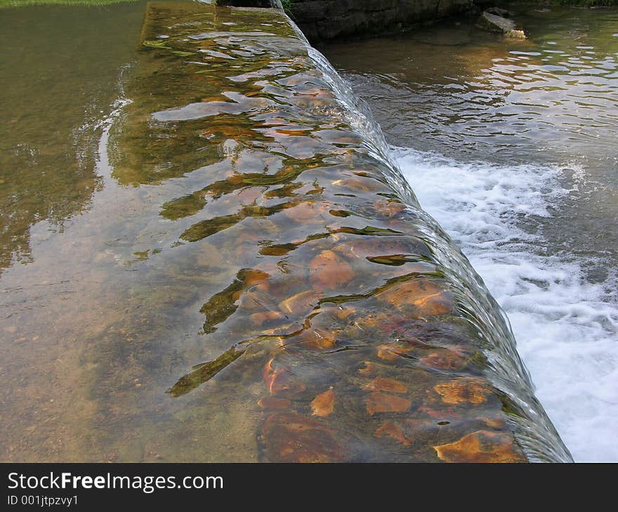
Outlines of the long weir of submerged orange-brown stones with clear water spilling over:
[{"label": "long weir of submerged orange-brown stones with clear water spilling over", "polygon": [[165,185],[203,297],[159,410],[223,460],[570,460],[504,314],[282,11],[150,4],[126,95],[114,177]]}]

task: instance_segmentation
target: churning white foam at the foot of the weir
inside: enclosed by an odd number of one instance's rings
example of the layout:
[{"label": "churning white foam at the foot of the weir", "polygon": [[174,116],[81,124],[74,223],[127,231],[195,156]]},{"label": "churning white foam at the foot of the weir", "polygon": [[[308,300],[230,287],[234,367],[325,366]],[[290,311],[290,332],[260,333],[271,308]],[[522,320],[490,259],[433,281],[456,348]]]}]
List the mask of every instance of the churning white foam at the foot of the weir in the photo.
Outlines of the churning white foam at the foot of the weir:
[{"label": "churning white foam at the foot of the weir", "polygon": [[[421,206],[460,245],[511,321],[536,394],[576,461],[618,461],[618,306],[586,261],[522,229],[569,191],[559,167],[459,163],[393,148]],[[551,222],[551,218],[548,219]]]}]

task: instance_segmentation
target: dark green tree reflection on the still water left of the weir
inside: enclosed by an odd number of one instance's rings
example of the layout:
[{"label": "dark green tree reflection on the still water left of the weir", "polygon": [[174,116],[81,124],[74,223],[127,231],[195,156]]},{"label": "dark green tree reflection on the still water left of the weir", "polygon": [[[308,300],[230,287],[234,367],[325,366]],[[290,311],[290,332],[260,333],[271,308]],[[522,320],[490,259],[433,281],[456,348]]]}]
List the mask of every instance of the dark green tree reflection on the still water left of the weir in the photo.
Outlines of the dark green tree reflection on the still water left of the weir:
[{"label": "dark green tree reflection on the still water left of the weir", "polygon": [[133,56],[142,11],[143,5],[2,11],[0,272],[13,260],[32,259],[32,224],[46,220],[62,231],[100,188],[100,130],[93,125],[119,93],[119,67]]}]

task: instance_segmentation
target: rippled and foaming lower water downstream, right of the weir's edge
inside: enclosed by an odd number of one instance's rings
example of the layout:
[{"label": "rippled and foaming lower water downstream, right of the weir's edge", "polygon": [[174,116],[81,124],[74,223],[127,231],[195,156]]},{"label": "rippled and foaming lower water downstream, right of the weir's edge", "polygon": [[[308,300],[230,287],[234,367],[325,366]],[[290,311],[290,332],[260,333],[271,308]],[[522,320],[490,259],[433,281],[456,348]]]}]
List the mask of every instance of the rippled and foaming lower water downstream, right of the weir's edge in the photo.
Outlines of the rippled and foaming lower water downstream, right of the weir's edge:
[{"label": "rippled and foaming lower water downstream, right of the weir's edge", "polygon": [[574,458],[618,445],[618,12],[520,13],[322,51],[369,102],[421,206],[506,310]]}]

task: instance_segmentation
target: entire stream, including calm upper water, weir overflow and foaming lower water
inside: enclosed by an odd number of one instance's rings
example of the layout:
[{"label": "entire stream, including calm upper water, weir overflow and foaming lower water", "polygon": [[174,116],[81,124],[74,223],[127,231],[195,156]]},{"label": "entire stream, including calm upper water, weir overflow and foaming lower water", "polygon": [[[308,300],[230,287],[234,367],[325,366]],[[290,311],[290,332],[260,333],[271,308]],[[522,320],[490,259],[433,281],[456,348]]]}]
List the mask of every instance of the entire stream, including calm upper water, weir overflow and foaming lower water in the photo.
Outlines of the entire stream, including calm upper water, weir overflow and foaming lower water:
[{"label": "entire stream, including calm upper water, weir overflow and foaming lower water", "polygon": [[178,4],[0,8],[0,459],[618,460],[618,13]]}]

